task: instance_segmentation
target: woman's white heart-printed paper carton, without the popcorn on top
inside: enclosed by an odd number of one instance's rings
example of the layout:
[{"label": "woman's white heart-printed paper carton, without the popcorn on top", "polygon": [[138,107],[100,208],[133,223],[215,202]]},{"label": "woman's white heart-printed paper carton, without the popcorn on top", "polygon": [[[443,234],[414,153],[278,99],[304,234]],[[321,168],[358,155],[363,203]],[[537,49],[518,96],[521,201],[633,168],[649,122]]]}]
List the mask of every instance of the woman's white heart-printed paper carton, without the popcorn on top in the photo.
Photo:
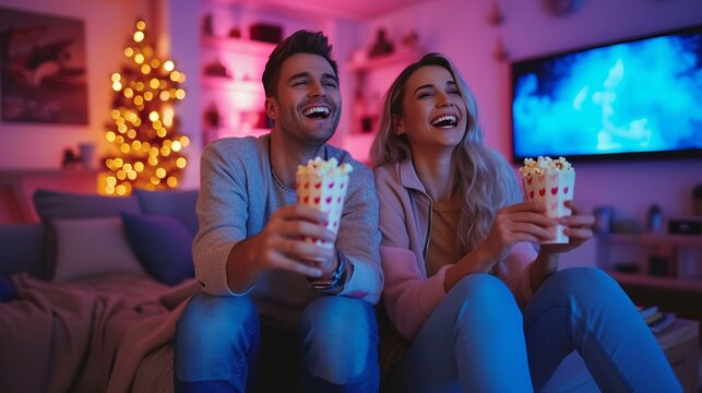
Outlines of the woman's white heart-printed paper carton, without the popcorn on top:
[{"label": "woman's white heart-printed paper carton, without the popcorn on top", "polygon": [[[524,184],[524,198],[526,201],[537,201],[546,206],[546,215],[558,218],[571,214],[564,202],[573,199],[575,187],[574,170],[547,171],[543,175],[525,175],[522,177]],[[563,234],[563,226],[556,227],[554,240],[542,241],[542,243],[567,243],[569,237]]]}]

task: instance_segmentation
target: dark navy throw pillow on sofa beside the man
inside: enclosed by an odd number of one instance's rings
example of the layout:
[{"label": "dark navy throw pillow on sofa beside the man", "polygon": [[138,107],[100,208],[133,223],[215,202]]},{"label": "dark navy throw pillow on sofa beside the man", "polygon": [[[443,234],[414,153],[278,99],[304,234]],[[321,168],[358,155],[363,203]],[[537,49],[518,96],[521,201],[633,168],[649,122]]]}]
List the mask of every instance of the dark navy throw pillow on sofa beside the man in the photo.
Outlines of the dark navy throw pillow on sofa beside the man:
[{"label": "dark navy throw pillow on sofa beside the man", "polygon": [[127,240],[146,271],[166,285],[194,275],[193,235],[176,218],[122,213]]}]

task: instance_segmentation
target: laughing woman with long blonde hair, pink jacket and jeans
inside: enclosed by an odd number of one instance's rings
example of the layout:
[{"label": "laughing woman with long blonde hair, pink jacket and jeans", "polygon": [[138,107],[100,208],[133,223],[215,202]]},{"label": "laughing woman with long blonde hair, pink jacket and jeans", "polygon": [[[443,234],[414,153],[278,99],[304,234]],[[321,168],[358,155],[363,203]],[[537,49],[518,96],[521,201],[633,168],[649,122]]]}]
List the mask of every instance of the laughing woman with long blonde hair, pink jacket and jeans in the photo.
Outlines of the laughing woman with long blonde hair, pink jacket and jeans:
[{"label": "laughing woman with long blonde hair, pink jacket and jeans", "polygon": [[[612,279],[591,267],[558,271],[559,254],[592,237],[594,218],[572,202],[560,219],[521,202],[447,57],[425,56],[391,85],[371,163],[383,305],[411,342],[386,377],[390,391],[540,391],[572,350],[603,391],[680,391]],[[536,251],[557,224],[570,242]],[[385,335],[381,350],[396,355],[392,343]]]}]

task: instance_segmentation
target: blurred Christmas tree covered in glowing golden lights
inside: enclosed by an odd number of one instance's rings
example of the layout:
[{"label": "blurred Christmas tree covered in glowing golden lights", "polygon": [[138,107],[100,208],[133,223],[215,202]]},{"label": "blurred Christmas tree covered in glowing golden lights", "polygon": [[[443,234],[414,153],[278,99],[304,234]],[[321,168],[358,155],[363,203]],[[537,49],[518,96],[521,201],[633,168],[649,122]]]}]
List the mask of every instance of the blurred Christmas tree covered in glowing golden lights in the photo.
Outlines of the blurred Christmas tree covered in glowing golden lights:
[{"label": "blurred Christmas tree covered in glowing golden lights", "polygon": [[159,59],[146,40],[146,23],[136,22],[128,59],[111,75],[115,97],[105,134],[115,155],[105,160],[110,170],[105,193],[127,195],[133,188],[178,187],[188,160],[182,150],[190,140],[178,133],[174,104],[186,97],[186,81],[171,60]]}]

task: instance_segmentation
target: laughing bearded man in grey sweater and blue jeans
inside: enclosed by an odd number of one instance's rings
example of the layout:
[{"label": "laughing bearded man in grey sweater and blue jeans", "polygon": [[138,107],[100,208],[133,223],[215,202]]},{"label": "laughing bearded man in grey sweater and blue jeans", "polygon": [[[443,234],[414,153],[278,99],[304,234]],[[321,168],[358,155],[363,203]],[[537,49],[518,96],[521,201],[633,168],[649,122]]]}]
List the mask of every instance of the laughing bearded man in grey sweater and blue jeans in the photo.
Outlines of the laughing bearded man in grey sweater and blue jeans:
[{"label": "laughing bearded man in grey sweater and blue jeans", "polygon": [[[378,391],[378,200],[370,170],[326,144],[342,104],[331,49],[322,33],[283,40],[263,72],[270,135],[203,152],[204,293],[178,322],[176,391]],[[334,240],[325,214],[296,204],[297,165],[316,156],[354,167],[334,249],[300,240]]]}]

